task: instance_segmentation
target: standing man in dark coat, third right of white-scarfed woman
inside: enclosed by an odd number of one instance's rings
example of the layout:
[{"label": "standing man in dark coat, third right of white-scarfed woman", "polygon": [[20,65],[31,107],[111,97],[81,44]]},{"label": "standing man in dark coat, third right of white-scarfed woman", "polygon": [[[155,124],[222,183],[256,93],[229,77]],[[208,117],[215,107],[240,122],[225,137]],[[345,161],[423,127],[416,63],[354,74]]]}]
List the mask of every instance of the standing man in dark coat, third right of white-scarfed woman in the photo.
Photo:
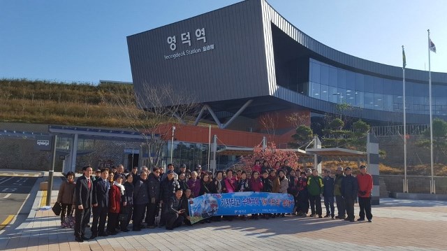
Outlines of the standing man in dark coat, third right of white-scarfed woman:
[{"label": "standing man in dark coat, third right of white-scarfed woman", "polygon": [[146,212],[147,227],[153,229],[155,227],[155,216],[159,213],[160,203],[160,171],[154,167],[152,173],[147,177],[147,185],[149,187],[149,203]]}]

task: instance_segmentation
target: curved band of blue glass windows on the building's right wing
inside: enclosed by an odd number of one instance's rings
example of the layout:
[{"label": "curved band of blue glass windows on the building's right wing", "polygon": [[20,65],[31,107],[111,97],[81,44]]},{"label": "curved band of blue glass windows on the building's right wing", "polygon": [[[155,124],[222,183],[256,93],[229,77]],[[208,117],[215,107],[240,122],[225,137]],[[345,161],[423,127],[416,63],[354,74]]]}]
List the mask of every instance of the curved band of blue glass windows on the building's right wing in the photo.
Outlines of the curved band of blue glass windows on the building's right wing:
[{"label": "curved band of blue glass windows on the building's right wing", "polygon": [[[402,112],[402,80],[390,80],[354,73],[310,59],[310,96],[332,103],[349,103],[360,108]],[[408,113],[428,114],[428,85],[406,82]],[[447,113],[447,86],[432,85],[434,114]],[[341,98],[340,98],[341,97]]]}]

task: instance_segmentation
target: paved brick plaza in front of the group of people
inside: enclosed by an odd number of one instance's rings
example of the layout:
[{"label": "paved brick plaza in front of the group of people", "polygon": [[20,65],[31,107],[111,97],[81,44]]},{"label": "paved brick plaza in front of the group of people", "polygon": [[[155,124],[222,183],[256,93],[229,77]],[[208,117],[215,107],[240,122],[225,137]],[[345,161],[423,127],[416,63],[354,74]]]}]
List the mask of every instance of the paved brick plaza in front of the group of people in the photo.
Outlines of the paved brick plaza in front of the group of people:
[{"label": "paved brick plaza in front of the group of people", "polygon": [[[447,249],[447,201],[381,199],[380,206],[373,206],[372,223],[286,216],[199,223],[175,231],[142,229],[78,243],[73,229],[61,229],[59,217],[51,210],[38,210],[45,201],[42,196],[45,192],[39,191],[27,220],[6,227],[0,235],[0,250]],[[56,198],[53,191],[52,201]]]}]

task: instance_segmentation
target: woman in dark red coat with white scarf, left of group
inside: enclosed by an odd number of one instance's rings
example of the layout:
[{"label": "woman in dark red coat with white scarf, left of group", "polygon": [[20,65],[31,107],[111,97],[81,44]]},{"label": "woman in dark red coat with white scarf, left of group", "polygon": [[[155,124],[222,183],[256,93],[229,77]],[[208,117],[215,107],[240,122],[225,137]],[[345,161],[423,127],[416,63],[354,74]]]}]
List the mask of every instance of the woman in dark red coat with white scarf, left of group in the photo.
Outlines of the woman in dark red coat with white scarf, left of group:
[{"label": "woman in dark red coat with white scarf, left of group", "polygon": [[[118,234],[115,230],[118,224],[119,210],[121,210],[121,196],[124,195],[123,176],[115,175],[115,182],[109,189],[109,213],[107,221],[107,233],[111,235]],[[125,202],[124,202],[125,203]],[[125,204],[123,204],[126,206]]]}]

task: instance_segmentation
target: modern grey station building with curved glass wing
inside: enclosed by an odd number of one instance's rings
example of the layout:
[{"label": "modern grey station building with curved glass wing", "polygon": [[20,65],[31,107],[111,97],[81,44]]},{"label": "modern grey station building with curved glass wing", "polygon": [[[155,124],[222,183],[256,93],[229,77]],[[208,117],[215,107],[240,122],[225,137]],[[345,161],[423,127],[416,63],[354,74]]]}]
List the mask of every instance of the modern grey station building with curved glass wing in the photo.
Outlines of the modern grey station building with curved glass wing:
[{"label": "modern grey station building with curved glass wing", "polygon": [[[264,0],[241,1],[127,41],[135,92],[171,86],[199,104],[195,124],[206,120],[221,133],[245,131],[237,140],[254,137],[247,144],[268,131],[261,123],[265,116],[277,117],[275,140],[287,143],[294,128],[284,117],[302,113],[310,124],[339,113],[338,103],[349,103],[351,117],[372,125],[403,120],[401,67],[323,45]],[[428,92],[428,72],[406,69],[407,123],[429,123]],[[434,117],[447,120],[447,73],[432,72],[432,93]],[[174,104],[166,99],[166,106]],[[184,136],[178,131],[176,140],[205,143],[191,130]],[[253,147],[230,138],[226,145]]]}]

